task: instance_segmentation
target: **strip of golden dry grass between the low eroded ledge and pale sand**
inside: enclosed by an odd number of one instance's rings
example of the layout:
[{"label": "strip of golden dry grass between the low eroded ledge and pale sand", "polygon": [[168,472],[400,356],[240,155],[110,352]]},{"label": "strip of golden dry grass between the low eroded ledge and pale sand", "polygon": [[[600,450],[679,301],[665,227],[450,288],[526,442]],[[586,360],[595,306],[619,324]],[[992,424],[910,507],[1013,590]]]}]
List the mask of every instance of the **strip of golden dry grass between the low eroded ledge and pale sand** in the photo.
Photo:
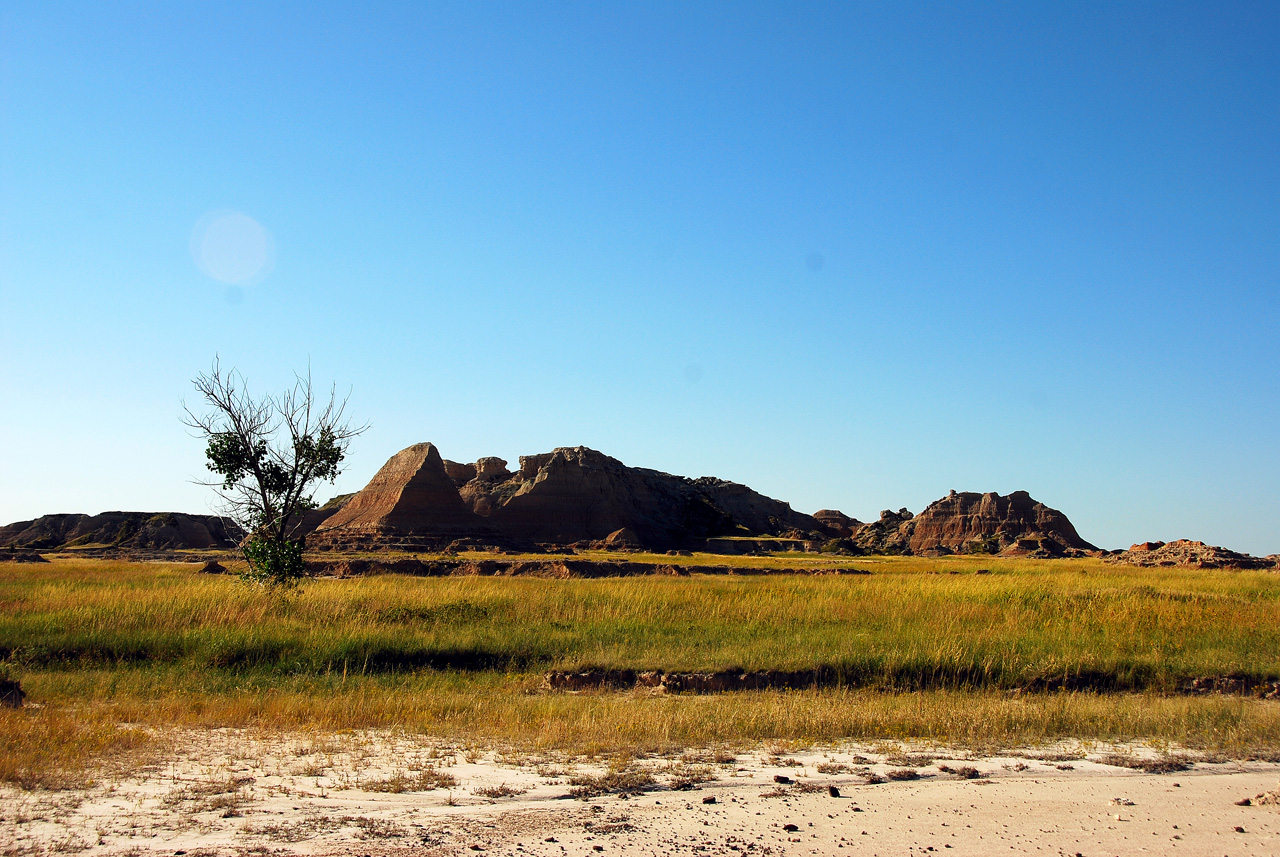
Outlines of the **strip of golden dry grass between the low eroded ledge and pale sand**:
[{"label": "strip of golden dry grass between the low eroded ledge and pale sand", "polygon": [[[966,747],[1064,738],[1161,739],[1234,753],[1280,747],[1280,704],[1222,696],[879,693],[849,688],[708,696],[570,695],[538,692],[539,678],[530,675],[431,673],[348,677],[346,682],[298,677],[270,686],[246,680],[204,687],[175,672],[81,670],[35,673],[28,683],[32,696],[46,707],[5,712],[8,719],[0,721],[5,732],[27,719],[49,724],[40,727],[46,730],[76,724],[90,729],[87,735],[99,735],[92,732],[96,723],[324,732],[394,728],[458,742],[596,752],[845,738],[932,739]],[[69,716],[73,711],[76,716]],[[105,739],[101,735],[95,739]]]}]

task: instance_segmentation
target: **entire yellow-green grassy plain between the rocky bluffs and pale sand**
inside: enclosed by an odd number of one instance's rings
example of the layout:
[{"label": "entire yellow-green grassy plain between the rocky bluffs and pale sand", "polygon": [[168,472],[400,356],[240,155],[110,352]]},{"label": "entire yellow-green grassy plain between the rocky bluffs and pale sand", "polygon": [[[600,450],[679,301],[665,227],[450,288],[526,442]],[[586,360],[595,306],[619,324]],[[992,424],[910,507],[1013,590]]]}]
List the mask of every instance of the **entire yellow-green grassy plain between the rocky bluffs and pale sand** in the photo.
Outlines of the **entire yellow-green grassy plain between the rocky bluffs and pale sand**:
[{"label": "entire yellow-green grassy plain between the rocky bluffs and pale sand", "polygon": [[[1172,693],[1193,677],[1280,678],[1276,574],[997,558],[678,562],[744,573],[375,576],[282,599],[189,564],[0,563],[0,656],[38,704],[0,712],[0,779],[56,779],[172,725],[389,727],[591,752],[840,738],[1280,748],[1280,702]],[[836,565],[872,573],[750,573]],[[589,666],[822,666],[840,682],[716,696],[541,689],[545,670]],[[1061,675],[1114,692],[1009,693]]]}]

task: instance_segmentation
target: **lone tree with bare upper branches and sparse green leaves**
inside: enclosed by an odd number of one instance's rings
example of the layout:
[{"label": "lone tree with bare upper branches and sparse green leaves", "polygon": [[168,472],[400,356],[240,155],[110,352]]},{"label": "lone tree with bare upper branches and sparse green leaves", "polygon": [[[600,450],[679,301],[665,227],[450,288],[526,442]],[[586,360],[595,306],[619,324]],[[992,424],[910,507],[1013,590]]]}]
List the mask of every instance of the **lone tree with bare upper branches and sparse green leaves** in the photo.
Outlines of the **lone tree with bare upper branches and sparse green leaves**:
[{"label": "lone tree with bare upper branches and sparse green leaves", "polygon": [[328,403],[316,400],[311,372],[294,376],[279,395],[250,395],[244,376],[223,371],[215,358],[192,381],[206,405],[183,405],[183,422],[205,439],[206,466],[219,478],[201,482],[218,491],[221,512],[247,537],[241,551],[244,577],[264,586],[292,586],[302,578],[303,537],[294,539],[302,515],[316,508],[314,490],[342,472],[351,439],[367,428],[346,421],[347,400],[337,388]]}]

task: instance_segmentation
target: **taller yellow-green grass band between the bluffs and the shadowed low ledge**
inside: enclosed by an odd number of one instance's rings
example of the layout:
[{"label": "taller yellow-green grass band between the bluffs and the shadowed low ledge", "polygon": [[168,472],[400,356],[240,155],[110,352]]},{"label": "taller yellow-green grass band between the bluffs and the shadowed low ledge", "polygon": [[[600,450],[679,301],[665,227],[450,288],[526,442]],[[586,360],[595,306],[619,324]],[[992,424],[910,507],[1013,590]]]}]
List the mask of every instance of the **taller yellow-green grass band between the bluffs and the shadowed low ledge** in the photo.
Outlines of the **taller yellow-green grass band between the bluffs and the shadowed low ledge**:
[{"label": "taller yellow-green grass band between the bluffs and the shadowed low ledge", "polygon": [[1170,691],[1201,675],[1280,678],[1272,573],[995,558],[858,564],[876,573],[379,576],[314,581],[288,599],[188,565],[0,564],[0,657],[24,669],[173,664],[269,677],[823,668],[881,689],[1087,675],[1107,689]]}]

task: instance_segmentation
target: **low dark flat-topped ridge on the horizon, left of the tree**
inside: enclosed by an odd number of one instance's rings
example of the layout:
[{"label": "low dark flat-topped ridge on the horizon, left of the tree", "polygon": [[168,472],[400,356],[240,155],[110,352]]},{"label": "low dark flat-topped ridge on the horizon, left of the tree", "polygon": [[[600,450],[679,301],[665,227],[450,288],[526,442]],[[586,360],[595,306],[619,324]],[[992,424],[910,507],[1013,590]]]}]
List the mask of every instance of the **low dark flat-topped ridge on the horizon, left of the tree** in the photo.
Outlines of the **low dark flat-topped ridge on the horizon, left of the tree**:
[{"label": "low dark flat-topped ridge on the horizon, left of the tree", "polygon": [[239,528],[218,515],[180,512],[46,514],[0,527],[0,546],[29,550],[110,546],[141,550],[234,547]]}]

